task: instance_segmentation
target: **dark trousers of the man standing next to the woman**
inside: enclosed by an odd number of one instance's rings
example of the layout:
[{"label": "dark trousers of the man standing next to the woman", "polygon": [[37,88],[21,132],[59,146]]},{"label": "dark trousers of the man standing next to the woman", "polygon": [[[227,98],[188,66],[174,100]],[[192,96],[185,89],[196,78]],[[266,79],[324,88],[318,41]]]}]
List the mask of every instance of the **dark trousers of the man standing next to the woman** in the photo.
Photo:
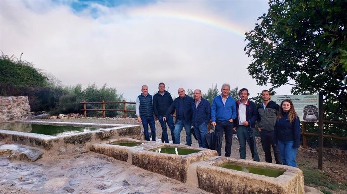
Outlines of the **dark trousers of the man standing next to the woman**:
[{"label": "dark trousers of the man standing next to the woman", "polygon": [[262,130],[260,134],[261,134],[262,147],[265,154],[265,161],[268,163],[272,162],[271,149],[270,149],[270,146],[272,146],[272,149],[274,150],[274,157],[275,157],[276,163],[282,164],[280,150],[278,149],[278,146],[274,144],[275,142],[273,142],[274,135],[275,135],[274,131]]}]

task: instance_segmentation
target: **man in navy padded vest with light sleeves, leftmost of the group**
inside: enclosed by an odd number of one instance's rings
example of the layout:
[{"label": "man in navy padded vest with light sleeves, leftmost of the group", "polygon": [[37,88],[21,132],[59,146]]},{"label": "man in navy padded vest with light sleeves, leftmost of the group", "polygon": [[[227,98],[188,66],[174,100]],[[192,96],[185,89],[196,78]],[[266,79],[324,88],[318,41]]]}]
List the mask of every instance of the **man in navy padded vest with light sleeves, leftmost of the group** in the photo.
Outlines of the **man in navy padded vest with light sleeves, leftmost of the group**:
[{"label": "man in navy padded vest with light sleeves, leftmost of the group", "polygon": [[150,141],[148,133],[148,124],[152,133],[152,141],[155,141],[155,121],[152,95],[148,94],[148,86],[143,85],[141,88],[141,95],[136,98],[136,116],[137,121],[142,123],[145,140]]}]

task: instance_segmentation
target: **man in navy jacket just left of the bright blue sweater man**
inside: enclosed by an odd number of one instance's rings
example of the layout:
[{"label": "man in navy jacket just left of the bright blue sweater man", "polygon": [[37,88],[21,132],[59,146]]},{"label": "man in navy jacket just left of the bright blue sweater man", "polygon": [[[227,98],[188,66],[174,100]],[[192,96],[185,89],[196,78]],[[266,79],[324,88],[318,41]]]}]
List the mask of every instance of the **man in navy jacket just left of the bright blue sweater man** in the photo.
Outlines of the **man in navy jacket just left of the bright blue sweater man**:
[{"label": "man in navy jacket just left of the bright blue sweater man", "polygon": [[211,105],[201,97],[201,90],[199,89],[194,90],[193,98],[193,130],[198,139],[199,147],[208,148],[205,135],[207,134],[207,124],[211,119]]}]

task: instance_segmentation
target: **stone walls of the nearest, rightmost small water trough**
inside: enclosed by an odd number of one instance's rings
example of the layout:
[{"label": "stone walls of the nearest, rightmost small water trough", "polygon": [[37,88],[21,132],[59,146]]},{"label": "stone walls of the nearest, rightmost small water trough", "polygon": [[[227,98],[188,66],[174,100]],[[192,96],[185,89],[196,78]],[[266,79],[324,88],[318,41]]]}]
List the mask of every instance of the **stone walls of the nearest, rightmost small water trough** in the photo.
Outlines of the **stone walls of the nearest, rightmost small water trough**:
[{"label": "stone walls of the nearest, rightmost small water trough", "polygon": [[[227,164],[265,168],[283,174],[269,177],[227,169]],[[199,163],[197,175],[199,188],[212,193],[305,193],[303,172],[299,168],[286,165],[216,157]]]}]

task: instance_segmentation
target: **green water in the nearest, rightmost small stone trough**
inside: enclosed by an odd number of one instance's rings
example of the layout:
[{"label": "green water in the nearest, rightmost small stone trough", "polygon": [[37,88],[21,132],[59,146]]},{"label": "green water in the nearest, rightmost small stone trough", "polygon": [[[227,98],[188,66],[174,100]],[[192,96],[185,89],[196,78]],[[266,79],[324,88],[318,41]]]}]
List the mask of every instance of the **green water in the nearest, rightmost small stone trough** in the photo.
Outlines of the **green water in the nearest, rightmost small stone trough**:
[{"label": "green water in the nearest, rightmost small stone trough", "polygon": [[258,166],[242,165],[242,164],[235,164],[230,162],[221,164],[219,165],[219,167],[252,173],[252,174],[264,175],[264,176],[273,177],[273,178],[279,177],[285,171],[282,169],[262,168]]}]

